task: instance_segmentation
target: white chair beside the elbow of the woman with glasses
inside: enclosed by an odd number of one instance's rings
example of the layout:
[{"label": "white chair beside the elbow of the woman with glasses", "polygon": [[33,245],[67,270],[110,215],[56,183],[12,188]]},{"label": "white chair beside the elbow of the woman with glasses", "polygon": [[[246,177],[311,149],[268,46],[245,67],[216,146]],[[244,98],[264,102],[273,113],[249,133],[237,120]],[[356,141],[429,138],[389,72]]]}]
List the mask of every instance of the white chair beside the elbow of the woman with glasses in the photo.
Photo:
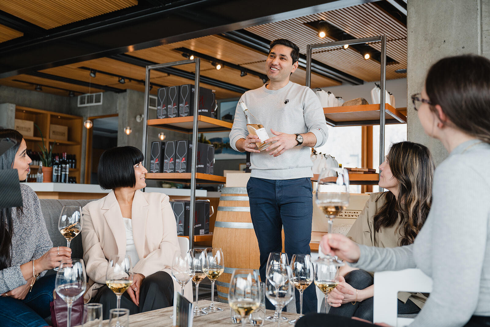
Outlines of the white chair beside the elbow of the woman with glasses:
[{"label": "white chair beside the elbow of the woman with glasses", "polygon": [[399,318],[398,292],[432,292],[432,278],[420,269],[404,269],[374,273],[374,323],[407,326],[412,318]]}]

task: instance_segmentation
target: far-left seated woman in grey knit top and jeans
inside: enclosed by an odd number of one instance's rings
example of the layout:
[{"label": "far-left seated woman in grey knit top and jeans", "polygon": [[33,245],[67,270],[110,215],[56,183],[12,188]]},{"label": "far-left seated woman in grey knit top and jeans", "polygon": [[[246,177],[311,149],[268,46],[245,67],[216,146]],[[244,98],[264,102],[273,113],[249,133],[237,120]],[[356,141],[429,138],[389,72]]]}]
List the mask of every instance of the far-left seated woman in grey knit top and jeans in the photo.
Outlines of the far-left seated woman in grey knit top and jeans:
[{"label": "far-left seated woman in grey knit top and jeans", "polygon": [[[17,169],[19,180],[29,174],[31,159],[22,134],[0,128],[0,140],[16,145],[0,155],[0,170]],[[56,275],[46,271],[70,258],[67,247],[53,248],[34,191],[21,183],[22,207],[0,209],[0,326],[48,326]]]}]

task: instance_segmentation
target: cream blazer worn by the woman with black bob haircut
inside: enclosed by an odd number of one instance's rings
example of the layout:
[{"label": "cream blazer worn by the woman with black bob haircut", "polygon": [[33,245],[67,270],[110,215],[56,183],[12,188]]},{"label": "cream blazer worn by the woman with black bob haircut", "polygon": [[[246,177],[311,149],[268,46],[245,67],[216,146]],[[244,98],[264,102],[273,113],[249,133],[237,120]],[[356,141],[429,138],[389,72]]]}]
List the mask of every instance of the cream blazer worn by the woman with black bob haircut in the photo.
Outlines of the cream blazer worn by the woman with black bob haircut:
[{"label": "cream blazer worn by the woman with black bob haircut", "polygon": [[[82,215],[83,259],[89,277],[89,289],[84,295],[87,302],[95,296],[98,288],[105,285],[110,256],[126,253],[126,229],[114,190],[102,199],[87,203]],[[133,273],[147,277],[164,271],[172,276],[172,261],[176,253],[180,253],[180,248],[169,197],[137,190],[131,216],[134,245],[140,258],[133,267]],[[180,292],[180,285],[175,280],[173,288]],[[192,302],[192,282],[187,283],[184,295]]]}]

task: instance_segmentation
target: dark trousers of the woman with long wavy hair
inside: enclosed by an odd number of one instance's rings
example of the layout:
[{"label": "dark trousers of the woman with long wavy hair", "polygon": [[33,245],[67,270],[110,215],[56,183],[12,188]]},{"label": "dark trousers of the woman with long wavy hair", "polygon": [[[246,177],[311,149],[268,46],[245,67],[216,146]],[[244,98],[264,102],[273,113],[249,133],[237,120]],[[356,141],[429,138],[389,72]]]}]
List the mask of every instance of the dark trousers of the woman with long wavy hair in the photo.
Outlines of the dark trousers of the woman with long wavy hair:
[{"label": "dark trousers of the woman with long wavy hair", "polygon": [[[356,289],[364,289],[371,286],[374,282],[373,277],[367,271],[353,270],[345,275],[345,281]],[[330,307],[329,314],[344,316],[344,317],[358,317],[366,319],[368,321],[373,320],[373,304],[374,298],[369,298],[361,302],[344,303],[339,307]],[[411,300],[407,300],[406,303],[398,300],[398,314],[413,314],[418,313],[420,308]]]}]

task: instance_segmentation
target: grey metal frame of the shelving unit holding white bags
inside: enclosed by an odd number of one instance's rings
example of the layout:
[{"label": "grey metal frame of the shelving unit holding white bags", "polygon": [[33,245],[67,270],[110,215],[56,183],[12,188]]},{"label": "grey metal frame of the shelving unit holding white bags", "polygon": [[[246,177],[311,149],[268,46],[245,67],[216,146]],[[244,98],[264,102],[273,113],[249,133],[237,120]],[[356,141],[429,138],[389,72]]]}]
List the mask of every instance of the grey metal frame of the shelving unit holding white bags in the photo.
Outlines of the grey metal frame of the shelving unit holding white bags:
[{"label": "grey metal frame of the shelving unit holding white bags", "polygon": [[[343,46],[344,44],[364,44],[370,42],[381,42],[381,94],[379,104],[379,164],[381,165],[385,161],[385,93],[386,93],[386,35],[378,35],[373,37],[366,37],[362,39],[352,39],[345,41],[334,41],[318,44],[309,44],[306,46],[306,86],[311,87],[311,67],[312,67],[312,50],[320,48],[330,48]],[[380,187],[380,191],[382,188]]]}]

